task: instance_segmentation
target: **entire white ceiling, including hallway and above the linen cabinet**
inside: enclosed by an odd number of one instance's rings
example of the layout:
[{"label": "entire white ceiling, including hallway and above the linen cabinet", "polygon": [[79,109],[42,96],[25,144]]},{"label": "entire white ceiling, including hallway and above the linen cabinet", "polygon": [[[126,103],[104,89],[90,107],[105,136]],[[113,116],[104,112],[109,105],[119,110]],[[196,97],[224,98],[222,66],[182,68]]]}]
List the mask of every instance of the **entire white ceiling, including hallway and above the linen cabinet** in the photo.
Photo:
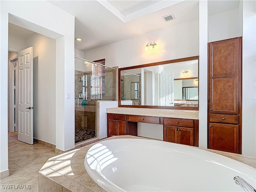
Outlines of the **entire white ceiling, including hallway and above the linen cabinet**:
[{"label": "entire white ceiling, including hallway and above the linen cabinet", "polygon": [[[199,18],[198,0],[49,0],[75,16],[75,48],[81,51],[112,44]],[[238,8],[240,1],[208,1],[209,14]],[[221,5],[221,6],[220,6]],[[165,22],[162,16],[174,14]],[[33,32],[9,25],[10,34],[28,38]],[[18,28],[16,28],[18,27]]]}]

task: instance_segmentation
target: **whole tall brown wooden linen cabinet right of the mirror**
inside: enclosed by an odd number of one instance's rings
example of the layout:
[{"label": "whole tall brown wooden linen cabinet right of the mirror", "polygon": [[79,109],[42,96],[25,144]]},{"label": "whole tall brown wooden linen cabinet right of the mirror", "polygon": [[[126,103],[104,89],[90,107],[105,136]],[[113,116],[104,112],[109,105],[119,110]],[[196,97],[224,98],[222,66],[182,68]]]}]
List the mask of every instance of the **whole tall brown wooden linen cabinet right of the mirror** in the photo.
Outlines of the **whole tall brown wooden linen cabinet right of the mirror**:
[{"label": "whole tall brown wooden linen cabinet right of the mirror", "polygon": [[208,43],[208,148],[242,153],[242,37]]}]

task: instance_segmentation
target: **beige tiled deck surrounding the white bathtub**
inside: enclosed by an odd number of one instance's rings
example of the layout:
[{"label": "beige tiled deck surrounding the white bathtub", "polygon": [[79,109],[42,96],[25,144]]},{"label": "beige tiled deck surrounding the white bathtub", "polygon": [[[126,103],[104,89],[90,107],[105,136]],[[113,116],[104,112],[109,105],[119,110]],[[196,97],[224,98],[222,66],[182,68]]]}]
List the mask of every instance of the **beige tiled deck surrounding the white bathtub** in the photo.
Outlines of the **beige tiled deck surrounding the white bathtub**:
[{"label": "beige tiled deck surrounding the white bathtub", "polygon": [[[136,136],[112,136],[114,138],[141,138]],[[106,139],[106,140],[107,140]],[[144,138],[146,139],[146,138]],[[84,168],[84,158],[88,149],[94,145],[90,144],[64,154],[50,158],[39,171],[39,191],[59,191],[59,192],[102,192],[98,186],[86,173]],[[207,150],[207,149],[206,149]],[[244,164],[256,168],[256,158],[242,156],[217,150],[208,150]]]}]

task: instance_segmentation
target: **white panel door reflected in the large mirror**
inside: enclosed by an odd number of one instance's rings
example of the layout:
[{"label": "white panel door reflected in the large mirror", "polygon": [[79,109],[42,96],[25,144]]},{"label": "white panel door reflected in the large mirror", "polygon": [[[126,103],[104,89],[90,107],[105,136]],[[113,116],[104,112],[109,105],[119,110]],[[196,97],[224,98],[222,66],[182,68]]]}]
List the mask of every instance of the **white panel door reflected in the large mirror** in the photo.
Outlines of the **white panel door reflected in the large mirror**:
[{"label": "white panel door reflected in the large mirror", "polygon": [[160,106],[174,106],[174,74],[160,74]]}]

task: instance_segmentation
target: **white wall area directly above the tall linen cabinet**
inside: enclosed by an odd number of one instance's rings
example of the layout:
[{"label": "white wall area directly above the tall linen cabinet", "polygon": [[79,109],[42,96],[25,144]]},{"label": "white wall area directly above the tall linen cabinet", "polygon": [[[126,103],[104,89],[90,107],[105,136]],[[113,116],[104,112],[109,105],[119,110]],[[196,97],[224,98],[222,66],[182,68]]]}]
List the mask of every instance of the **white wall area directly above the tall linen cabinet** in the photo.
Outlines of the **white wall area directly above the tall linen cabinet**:
[{"label": "white wall area directly above the tall linen cabinet", "polygon": [[208,20],[208,42],[242,36],[242,15],[238,8],[210,15]]}]

